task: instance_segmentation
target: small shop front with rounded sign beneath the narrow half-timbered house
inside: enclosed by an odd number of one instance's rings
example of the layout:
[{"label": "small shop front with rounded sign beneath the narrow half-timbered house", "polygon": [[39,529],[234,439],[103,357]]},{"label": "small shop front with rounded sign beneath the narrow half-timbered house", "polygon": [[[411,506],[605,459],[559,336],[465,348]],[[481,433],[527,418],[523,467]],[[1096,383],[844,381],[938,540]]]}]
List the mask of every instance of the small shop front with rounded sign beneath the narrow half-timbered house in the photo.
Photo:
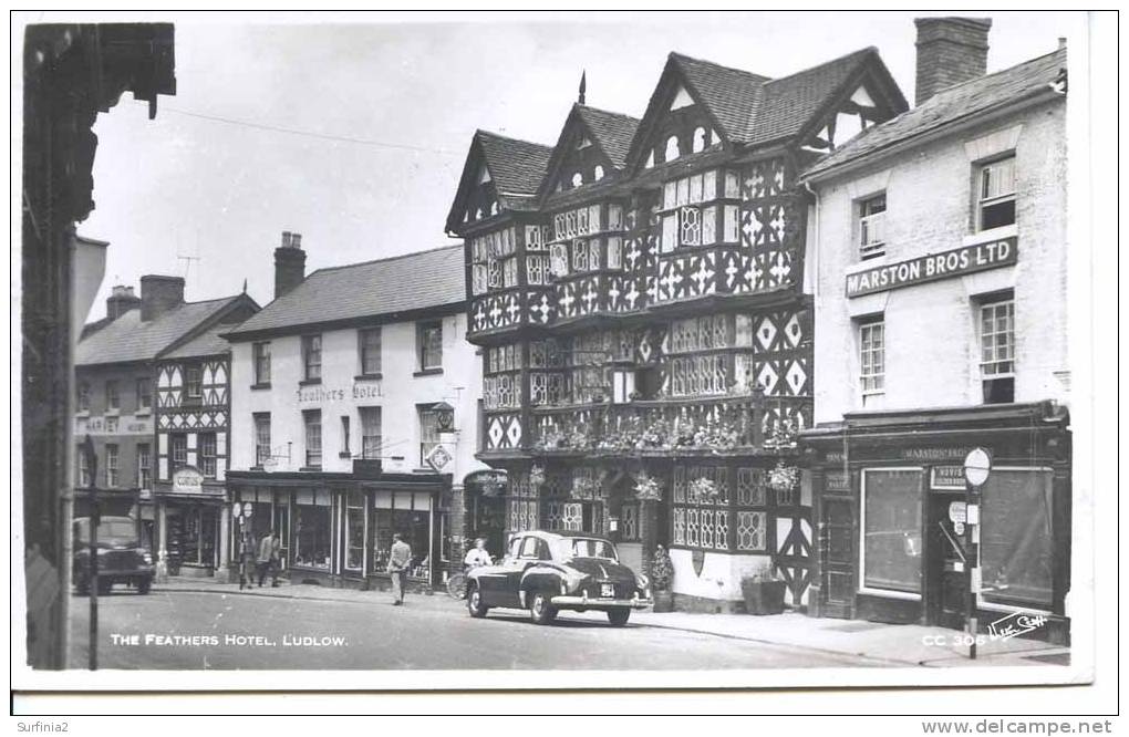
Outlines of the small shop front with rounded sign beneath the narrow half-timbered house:
[{"label": "small shop front with rounded sign beneath the narrow half-timbered house", "polygon": [[170,482],[156,482],[155,527],[160,574],[222,576],[225,559],[224,482],[204,479],[192,466],[178,468]]}]

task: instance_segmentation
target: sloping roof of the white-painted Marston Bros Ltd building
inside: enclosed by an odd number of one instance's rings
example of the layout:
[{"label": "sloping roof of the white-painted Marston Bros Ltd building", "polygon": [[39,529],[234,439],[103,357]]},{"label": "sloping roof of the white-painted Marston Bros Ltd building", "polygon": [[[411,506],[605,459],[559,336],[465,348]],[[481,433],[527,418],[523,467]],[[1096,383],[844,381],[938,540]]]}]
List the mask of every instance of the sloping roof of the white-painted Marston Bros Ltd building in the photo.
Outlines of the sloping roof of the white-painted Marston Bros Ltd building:
[{"label": "sloping roof of the white-painted Marston Bros Ltd building", "polygon": [[1045,90],[1064,69],[1066,69],[1066,50],[1060,49],[1009,69],[951,87],[934,95],[918,107],[863,131],[808,168],[804,176],[812,177],[990,107]]}]

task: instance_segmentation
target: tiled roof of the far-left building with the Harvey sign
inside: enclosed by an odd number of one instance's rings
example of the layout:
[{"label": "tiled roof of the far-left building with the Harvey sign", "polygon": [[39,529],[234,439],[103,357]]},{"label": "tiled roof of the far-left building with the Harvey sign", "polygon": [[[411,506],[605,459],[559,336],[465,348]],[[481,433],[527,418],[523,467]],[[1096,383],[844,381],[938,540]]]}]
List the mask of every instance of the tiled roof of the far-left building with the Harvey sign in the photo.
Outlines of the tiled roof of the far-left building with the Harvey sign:
[{"label": "tiled roof of the far-left building with the Harvey sign", "polygon": [[79,341],[75,353],[76,366],[151,361],[170,344],[201,323],[239,299],[224,297],[201,302],[185,302],[147,323],[141,322],[141,310],[131,309],[102,330]]}]

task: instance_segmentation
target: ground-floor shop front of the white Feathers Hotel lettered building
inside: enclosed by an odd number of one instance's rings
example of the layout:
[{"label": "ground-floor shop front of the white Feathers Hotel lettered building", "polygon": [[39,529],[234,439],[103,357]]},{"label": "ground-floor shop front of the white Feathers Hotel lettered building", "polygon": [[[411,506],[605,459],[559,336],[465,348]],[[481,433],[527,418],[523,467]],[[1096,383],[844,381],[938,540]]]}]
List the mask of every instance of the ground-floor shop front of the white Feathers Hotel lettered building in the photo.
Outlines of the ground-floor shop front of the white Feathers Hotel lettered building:
[{"label": "ground-floor shop front of the white Feathers Hotel lettered building", "polygon": [[412,549],[411,585],[429,589],[443,582],[450,545],[448,475],[250,471],[229,472],[228,483],[233,556],[244,530],[256,543],[277,532],[280,568],[292,584],[383,589],[390,586],[392,536],[400,533]]}]

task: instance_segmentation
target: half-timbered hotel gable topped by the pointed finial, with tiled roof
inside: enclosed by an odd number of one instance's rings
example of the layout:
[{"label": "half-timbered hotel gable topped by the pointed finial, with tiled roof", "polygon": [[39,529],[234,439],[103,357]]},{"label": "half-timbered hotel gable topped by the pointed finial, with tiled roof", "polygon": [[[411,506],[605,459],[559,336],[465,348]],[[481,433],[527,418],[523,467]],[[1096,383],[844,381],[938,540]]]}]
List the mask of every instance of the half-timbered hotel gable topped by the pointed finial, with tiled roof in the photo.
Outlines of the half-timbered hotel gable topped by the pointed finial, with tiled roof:
[{"label": "half-timbered hotel gable topped by the pointed finial, with tiled roof", "polygon": [[619,174],[638,125],[628,115],[574,105],[549,160],[542,194],[551,196]]}]

